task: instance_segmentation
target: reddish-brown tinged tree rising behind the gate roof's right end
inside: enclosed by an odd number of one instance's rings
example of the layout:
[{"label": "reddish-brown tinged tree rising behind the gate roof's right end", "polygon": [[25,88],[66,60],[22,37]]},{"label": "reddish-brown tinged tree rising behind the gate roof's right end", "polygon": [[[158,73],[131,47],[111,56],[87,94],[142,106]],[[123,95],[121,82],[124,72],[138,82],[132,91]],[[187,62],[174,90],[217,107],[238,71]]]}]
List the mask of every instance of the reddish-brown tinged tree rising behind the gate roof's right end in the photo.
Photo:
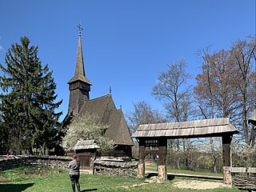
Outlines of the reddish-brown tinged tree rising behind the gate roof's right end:
[{"label": "reddish-brown tinged tree rising behind the gate roof's right end", "polygon": [[[194,95],[204,118],[234,118],[239,108],[238,87],[234,84],[237,69],[230,62],[230,51],[220,50],[211,54],[210,47],[198,52],[202,58],[202,74],[197,76]],[[210,138],[212,169],[216,172],[216,163],[221,157],[221,145],[217,138]]]}]

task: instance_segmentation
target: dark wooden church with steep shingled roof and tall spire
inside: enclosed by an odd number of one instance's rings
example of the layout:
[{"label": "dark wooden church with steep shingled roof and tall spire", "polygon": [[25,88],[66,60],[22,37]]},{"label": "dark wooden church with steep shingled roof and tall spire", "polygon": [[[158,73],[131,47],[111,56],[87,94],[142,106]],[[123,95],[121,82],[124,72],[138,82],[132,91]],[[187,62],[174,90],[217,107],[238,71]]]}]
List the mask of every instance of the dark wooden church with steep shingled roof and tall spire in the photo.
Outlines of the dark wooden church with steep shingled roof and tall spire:
[{"label": "dark wooden church with steep shingled roof and tall spire", "polygon": [[114,151],[109,155],[130,157],[131,147],[134,145],[134,142],[130,137],[130,130],[126,124],[122,109],[118,110],[116,108],[111,93],[99,98],[90,99],[90,86],[92,84],[85,74],[81,30],[79,32],[74,77],[70,79],[68,84],[70,100],[66,119],[71,122],[75,116],[82,116],[85,113],[97,114],[102,124],[109,126],[106,130],[106,137],[112,139],[115,143]]}]

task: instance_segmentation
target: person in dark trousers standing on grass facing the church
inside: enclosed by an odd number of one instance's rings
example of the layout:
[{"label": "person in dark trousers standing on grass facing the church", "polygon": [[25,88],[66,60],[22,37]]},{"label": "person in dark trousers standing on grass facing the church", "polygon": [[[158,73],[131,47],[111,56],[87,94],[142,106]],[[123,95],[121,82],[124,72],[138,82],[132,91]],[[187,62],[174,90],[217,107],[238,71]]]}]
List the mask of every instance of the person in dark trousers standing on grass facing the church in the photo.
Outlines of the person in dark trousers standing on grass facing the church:
[{"label": "person in dark trousers standing on grass facing the church", "polygon": [[75,185],[78,188],[78,192],[80,192],[80,184],[79,184],[79,177],[80,177],[80,164],[78,162],[78,156],[76,154],[73,155],[73,160],[69,162],[69,169],[70,169],[70,180],[72,184],[73,192],[75,192]]}]

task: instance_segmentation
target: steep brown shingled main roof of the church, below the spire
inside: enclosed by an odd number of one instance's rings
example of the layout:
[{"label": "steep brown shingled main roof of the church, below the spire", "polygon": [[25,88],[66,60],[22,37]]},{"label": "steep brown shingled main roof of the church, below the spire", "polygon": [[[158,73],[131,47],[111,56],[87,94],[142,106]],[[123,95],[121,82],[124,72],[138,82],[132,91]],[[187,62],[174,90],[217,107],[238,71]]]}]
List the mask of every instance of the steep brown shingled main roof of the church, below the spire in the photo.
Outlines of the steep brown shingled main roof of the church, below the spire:
[{"label": "steep brown shingled main roof of the church, below the spire", "polygon": [[102,124],[109,126],[106,130],[106,137],[112,139],[115,144],[134,145],[122,110],[116,109],[111,94],[84,102],[78,115],[86,114],[86,112],[98,115]]}]

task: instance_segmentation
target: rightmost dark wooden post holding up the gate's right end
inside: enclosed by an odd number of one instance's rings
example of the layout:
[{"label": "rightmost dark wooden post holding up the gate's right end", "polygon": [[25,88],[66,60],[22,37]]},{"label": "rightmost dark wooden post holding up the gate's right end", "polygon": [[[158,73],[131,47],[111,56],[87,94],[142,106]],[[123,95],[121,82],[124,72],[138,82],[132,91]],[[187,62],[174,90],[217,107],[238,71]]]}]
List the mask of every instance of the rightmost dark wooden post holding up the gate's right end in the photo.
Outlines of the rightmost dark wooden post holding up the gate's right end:
[{"label": "rightmost dark wooden post holding up the gate's right end", "polygon": [[223,182],[227,186],[232,186],[231,178],[231,140],[232,135],[224,134],[222,135],[222,159],[223,159]]}]

